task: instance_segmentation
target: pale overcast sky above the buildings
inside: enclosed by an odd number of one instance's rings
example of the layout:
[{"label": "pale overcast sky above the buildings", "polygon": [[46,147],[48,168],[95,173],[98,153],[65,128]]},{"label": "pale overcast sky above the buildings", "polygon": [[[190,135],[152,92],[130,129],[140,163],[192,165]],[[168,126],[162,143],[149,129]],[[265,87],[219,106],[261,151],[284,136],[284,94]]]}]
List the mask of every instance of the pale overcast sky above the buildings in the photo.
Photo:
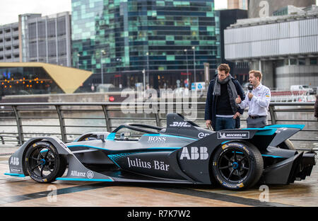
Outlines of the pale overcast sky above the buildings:
[{"label": "pale overcast sky above the buildings", "polygon": [[[216,0],[216,8],[226,8],[228,1]],[[23,13],[42,13],[42,16],[71,11],[71,0],[0,0],[0,26],[18,22]]]}]

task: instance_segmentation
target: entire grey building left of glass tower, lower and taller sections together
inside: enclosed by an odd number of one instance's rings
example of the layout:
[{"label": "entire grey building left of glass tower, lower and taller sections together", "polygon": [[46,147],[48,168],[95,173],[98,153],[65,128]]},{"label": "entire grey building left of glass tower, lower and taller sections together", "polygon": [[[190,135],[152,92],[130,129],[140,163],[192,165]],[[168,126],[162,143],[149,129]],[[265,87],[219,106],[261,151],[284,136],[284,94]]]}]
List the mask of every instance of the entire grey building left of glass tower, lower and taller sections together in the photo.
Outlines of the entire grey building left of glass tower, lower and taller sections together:
[{"label": "entire grey building left of glass tower, lower and taller sections together", "polygon": [[46,62],[71,67],[71,14],[19,15],[0,26],[0,62]]}]

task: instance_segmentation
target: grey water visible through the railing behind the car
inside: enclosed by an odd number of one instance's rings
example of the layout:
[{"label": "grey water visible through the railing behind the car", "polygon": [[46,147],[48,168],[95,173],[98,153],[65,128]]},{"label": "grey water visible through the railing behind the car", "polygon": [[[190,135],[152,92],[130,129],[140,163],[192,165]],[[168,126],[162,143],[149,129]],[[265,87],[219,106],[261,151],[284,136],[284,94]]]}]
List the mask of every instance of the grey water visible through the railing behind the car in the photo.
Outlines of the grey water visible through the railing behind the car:
[{"label": "grey water visible through the railing behind the car", "polygon": [[[114,130],[117,126],[124,123],[143,123],[146,125],[156,125],[155,115],[153,113],[129,113],[123,114],[121,111],[109,111],[108,115],[110,118],[115,118],[110,120],[111,130]],[[58,115],[52,111],[47,113],[21,113],[23,117],[21,119],[21,125],[25,140],[30,137],[39,136],[49,136],[54,135],[61,139],[61,128],[59,126]],[[47,118],[49,117],[49,118]],[[162,127],[166,126],[165,122],[166,114],[160,114],[160,124]],[[107,122],[105,120],[105,115],[102,110],[98,111],[64,111],[64,125],[67,134],[67,140],[70,142],[74,140],[78,135],[85,132],[93,131],[107,131]],[[122,119],[125,118],[125,119]],[[151,119],[136,119],[136,118],[151,118]],[[247,128],[245,119],[247,118],[247,112],[244,113],[241,120],[241,128]],[[305,124],[305,129],[315,129],[318,128],[317,118],[314,118],[314,112],[278,112],[276,113],[276,124]],[[271,119],[269,117],[269,124],[271,124]],[[288,120],[288,122],[280,121]],[[295,122],[293,120],[312,120],[312,122]],[[202,128],[206,128],[204,121],[204,111],[198,111],[197,119],[194,120],[196,124]],[[13,133],[17,136],[17,127],[15,118],[1,118],[0,123],[0,134],[1,133]],[[310,139],[317,140],[317,142],[297,142],[294,141],[296,147],[313,147],[313,145],[318,146],[318,133],[313,131],[300,131],[292,137],[293,139]]]}]

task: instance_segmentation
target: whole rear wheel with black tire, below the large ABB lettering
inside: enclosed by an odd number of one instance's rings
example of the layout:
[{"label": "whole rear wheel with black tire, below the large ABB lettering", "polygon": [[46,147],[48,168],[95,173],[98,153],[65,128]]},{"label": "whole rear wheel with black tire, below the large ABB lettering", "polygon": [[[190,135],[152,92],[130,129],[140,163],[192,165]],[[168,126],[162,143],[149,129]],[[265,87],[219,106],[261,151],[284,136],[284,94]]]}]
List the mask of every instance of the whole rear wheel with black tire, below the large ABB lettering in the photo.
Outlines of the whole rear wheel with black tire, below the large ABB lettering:
[{"label": "whole rear wheel with black tire, below the large ABB lettering", "polygon": [[228,142],[218,147],[211,164],[216,181],[230,190],[251,188],[264,169],[259,149],[247,142]]}]

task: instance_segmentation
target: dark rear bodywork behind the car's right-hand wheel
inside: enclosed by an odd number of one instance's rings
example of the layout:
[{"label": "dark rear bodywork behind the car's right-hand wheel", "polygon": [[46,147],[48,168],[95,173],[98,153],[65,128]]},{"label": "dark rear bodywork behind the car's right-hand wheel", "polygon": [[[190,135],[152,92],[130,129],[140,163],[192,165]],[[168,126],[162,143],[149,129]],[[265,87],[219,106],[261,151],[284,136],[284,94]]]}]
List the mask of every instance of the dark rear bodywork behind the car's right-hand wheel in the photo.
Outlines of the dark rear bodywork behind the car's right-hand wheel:
[{"label": "dark rear bodywork behind the car's right-hand wheel", "polygon": [[295,156],[273,164],[264,169],[260,182],[265,184],[289,184],[295,180],[300,181],[310,176],[312,167],[317,162],[317,154],[303,152]]}]

